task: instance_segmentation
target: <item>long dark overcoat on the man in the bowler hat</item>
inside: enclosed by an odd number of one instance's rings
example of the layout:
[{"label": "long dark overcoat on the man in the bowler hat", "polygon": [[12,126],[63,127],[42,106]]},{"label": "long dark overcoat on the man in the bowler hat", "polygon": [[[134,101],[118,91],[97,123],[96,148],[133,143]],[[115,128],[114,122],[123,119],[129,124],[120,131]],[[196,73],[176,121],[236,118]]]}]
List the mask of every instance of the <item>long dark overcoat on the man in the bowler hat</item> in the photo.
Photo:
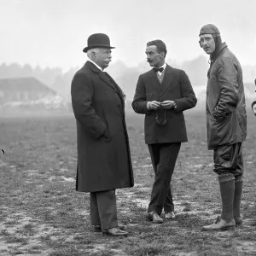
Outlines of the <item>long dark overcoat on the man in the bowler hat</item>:
[{"label": "long dark overcoat on the man in the bowler hat", "polygon": [[96,192],[134,185],[122,90],[87,61],[71,85],[77,120],[76,189]]}]

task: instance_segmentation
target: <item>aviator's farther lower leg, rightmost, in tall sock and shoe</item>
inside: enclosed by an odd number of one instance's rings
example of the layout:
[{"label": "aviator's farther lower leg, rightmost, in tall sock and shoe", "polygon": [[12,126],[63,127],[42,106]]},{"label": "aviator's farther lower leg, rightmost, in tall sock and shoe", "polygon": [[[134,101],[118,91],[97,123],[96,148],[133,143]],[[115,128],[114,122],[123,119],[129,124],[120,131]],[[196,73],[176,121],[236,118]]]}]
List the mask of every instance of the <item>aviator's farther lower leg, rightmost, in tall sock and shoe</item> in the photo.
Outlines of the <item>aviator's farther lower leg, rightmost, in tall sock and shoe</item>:
[{"label": "aviator's farther lower leg, rightmost, in tall sock and shoe", "polygon": [[242,219],[240,215],[241,194],[242,194],[242,176],[240,175],[240,176],[236,176],[235,195],[234,195],[234,203],[233,203],[233,215],[236,221],[236,225],[240,225],[242,223]]}]

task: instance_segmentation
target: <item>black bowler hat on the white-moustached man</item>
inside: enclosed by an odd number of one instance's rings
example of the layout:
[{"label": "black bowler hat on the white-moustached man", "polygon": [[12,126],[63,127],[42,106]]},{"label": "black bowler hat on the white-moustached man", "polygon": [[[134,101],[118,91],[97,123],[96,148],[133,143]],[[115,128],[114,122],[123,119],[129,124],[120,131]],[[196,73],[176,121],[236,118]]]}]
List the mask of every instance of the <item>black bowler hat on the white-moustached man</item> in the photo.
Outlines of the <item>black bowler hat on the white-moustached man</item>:
[{"label": "black bowler hat on the white-moustached man", "polygon": [[83,49],[84,52],[87,52],[88,49],[93,48],[108,48],[113,49],[115,47],[110,46],[110,40],[106,34],[96,33],[90,35],[87,40],[88,46]]}]

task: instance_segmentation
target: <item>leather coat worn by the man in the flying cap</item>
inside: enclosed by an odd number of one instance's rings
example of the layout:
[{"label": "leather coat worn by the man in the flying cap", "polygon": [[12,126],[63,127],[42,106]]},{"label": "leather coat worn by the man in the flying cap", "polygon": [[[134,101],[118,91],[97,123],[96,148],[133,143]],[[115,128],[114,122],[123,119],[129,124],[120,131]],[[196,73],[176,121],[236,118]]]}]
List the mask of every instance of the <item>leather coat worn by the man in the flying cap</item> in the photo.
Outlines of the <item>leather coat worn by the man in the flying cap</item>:
[{"label": "leather coat worn by the man in the flying cap", "polygon": [[247,137],[247,113],[242,71],[225,43],[208,71],[208,149],[241,143]]}]

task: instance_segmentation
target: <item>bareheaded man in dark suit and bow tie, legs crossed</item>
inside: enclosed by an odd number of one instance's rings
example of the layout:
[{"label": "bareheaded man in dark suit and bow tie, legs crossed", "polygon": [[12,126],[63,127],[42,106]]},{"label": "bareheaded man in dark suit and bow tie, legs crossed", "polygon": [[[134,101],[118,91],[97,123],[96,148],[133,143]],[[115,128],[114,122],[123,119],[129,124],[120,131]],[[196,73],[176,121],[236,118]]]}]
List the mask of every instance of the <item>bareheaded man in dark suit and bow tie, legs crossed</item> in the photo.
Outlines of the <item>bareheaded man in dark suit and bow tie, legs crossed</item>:
[{"label": "bareheaded man in dark suit and bow tie, legs crossed", "polygon": [[181,143],[188,141],[183,111],[194,108],[196,98],[183,70],[166,64],[166,44],[148,42],[146,55],[153,67],[139,76],[132,108],[145,114],[145,143],[154,167],[154,184],[148,205],[148,218],[162,223],[175,218],[171,180]]}]

